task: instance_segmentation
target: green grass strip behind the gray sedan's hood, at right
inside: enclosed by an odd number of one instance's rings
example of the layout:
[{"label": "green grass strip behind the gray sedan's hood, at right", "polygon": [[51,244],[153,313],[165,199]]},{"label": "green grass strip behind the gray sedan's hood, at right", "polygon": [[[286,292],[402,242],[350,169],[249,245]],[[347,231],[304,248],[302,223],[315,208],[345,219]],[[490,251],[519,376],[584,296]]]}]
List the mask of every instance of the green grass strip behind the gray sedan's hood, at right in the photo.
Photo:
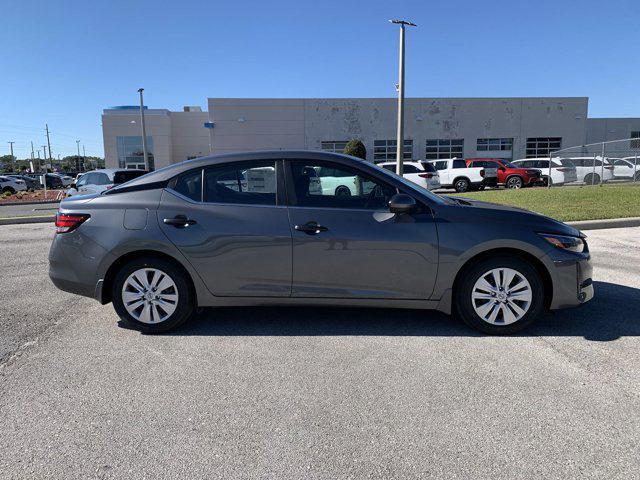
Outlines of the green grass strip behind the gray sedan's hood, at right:
[{"label": "green grass strip behind the gray sedan's hood, at right", "polygon": [[563,222],[640,217],[640,184],[501,189],[455,195],[525,208]]}]

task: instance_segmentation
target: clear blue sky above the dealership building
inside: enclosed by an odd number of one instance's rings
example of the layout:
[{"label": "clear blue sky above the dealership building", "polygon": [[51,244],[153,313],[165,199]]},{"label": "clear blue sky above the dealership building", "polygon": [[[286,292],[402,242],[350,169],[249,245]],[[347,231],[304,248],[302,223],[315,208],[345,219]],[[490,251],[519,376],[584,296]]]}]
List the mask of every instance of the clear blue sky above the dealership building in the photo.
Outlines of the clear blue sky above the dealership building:
[{"label": "clear blue sky above the dealership building", "polygon": [[0,154],[13,140],[102,156],[100,113],[207,97],[391,97],[397,28],[407,96],[588,96],[640,117],[640,2],[0,0]]}]

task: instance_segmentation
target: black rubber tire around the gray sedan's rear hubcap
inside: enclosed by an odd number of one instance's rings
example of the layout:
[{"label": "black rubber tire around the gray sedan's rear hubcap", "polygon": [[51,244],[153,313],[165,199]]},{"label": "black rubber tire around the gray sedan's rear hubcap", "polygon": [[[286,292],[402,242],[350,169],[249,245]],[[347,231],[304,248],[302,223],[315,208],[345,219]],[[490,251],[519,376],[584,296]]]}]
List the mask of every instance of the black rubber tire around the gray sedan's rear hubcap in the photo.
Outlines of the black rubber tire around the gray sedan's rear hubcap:
[{"label": "black rubber tire around the gray sedan's rear hubcap", "polygon": [[[178,301],[175,311],[166,320],[157,324],[143,323],[135,319],[127,311],[122,300],[122,288],[125,281],[129,275],[141,268],[154,268],[162,271],[173,280],[177,287]],[[130,327],[145,333],[166,332],[182,325],[191,316],[195,307],[194,294],[182,269],[171,262],[153,257],[132,260],[122,267],[113,281],[112,298],[113,307],[118,316]]]}]

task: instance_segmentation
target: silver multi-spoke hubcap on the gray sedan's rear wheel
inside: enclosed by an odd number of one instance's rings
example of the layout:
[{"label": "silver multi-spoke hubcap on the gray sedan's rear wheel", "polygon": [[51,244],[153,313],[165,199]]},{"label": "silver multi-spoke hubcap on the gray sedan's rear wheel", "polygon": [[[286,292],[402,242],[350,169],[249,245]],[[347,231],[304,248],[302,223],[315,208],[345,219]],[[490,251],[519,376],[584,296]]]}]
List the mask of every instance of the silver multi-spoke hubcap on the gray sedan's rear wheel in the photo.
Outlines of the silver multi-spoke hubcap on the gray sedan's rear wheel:
[{"label": "silver multi-spoke hubcap on the gray sedan's rear wheel", "polygon": [[122,303],[129,315],[139,322],[164,322],[178,306],[178,288],[162,270],[141,268],[125,280]]}]

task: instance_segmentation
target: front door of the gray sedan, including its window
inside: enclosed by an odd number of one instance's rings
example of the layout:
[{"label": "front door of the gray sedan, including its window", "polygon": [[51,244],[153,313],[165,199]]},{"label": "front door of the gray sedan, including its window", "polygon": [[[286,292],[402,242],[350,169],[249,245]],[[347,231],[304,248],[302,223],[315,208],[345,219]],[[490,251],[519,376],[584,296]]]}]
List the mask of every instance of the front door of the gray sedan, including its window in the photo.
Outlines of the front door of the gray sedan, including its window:
[{"label": "front door of the gray sedan, including its window", "polygon": [[[414,215],[393,215],[387,203],[397,190],[384,180],[340,163],[286,164],[293,296],[431,296],[438,244],[428,207]],[[309,172],[319,177],[321,190],[309,188]],[[330,178],[322,177],[325,172]]]}]

